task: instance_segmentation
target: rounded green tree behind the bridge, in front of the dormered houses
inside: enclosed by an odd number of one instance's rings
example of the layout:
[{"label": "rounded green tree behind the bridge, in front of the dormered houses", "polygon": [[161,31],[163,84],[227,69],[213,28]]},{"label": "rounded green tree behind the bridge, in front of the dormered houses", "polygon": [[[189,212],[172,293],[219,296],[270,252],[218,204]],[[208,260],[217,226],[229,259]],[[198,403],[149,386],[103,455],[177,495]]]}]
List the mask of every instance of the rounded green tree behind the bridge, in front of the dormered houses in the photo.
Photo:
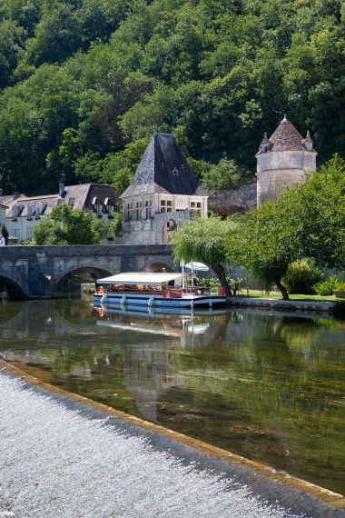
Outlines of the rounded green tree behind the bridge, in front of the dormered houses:
[{"label": "rounded green tree behind the bridge, in front of the dormered houses", "polygon": [[34,244],[100,244],[109,225],[69,204],[54,207],[34,228]]}]

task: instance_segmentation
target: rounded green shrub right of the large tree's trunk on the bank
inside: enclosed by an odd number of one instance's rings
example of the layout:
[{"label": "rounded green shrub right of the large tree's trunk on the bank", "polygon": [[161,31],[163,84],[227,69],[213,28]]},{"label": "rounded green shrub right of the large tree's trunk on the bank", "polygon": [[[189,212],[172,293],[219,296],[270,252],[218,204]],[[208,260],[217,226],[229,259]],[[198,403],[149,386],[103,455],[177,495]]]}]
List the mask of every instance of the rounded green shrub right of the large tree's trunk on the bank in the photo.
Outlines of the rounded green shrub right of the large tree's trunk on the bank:
[{"label": "rounded green shrub right of the large tree's trunk on the bank", "polygon": [[312,294],[314,284],[320,283],[324,276],[312,259],[297,259],[288,265],[282,284],[287,285],[290,294]]}]

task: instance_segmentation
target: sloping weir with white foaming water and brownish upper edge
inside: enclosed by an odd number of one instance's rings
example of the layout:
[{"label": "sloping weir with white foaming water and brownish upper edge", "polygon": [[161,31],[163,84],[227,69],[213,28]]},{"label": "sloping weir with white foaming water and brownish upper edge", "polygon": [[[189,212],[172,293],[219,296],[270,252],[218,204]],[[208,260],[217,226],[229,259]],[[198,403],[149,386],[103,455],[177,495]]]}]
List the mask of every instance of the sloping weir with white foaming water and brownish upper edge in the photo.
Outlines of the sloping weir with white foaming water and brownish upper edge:
[{"label": "sloping weir with white foaming water and brownish upper edge", "polygon": [[336,493],[25,378],[0,371],[0,515],[344,516]]}]

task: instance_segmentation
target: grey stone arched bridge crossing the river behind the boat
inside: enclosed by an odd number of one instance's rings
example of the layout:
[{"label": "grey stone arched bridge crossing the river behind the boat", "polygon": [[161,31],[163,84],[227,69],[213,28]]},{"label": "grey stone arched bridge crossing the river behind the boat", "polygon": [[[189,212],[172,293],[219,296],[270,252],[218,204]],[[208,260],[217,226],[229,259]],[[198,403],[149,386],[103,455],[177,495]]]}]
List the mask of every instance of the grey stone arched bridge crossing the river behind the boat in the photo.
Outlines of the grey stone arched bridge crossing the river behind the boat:
[{"label": "grey stone arched bridge crossing the river behind the boat", "polygon": [[[4,246],[0,248],[0,292],[16,298],[51,298],[73,274],[94,278],[120,272],[176,270],[172,248],[157,245]],[[177,266],[178,267],[178,266]]]}]

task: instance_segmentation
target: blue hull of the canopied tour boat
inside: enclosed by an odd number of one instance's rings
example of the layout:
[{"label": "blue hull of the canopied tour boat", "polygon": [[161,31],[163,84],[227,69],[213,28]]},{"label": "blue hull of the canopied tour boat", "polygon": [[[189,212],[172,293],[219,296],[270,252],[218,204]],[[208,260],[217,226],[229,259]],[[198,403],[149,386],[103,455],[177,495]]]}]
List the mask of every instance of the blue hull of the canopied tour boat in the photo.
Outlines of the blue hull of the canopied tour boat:
[{"label": "blue hull of the canopied tour boat", "polygon": [[163,298],[149,294],[94,294],[94,304],[148,305],[151,307],[200,307],[226,304],[226,297],[201,295],[196,297]]}]

